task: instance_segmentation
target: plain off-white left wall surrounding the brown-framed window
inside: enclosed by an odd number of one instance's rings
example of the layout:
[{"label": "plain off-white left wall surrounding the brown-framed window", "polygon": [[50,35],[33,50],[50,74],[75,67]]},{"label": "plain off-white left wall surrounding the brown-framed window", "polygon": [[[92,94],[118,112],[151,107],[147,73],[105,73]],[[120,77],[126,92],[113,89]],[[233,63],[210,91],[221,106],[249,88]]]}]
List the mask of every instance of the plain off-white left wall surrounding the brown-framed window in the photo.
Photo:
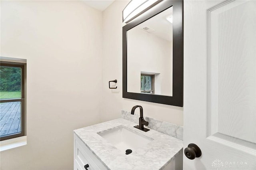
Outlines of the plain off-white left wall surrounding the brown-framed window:
[{"label": "plain off-white left wall surrounding the brown-framed window", "polygon": [[2,151],[1,169],[71,170],[73,130],[100,122],[102,12],[1,1],[1,56],[27,59],[27,145]]}]

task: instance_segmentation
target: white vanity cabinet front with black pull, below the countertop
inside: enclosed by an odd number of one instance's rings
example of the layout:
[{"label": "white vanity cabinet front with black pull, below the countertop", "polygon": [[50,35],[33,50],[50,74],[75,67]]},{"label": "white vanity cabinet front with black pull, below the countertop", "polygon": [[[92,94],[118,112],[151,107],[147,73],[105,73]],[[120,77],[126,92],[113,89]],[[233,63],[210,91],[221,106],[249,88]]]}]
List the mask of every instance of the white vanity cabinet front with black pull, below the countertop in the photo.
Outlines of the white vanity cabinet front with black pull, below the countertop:
[{"label": "white vanity cabinet front with black pull, below the countertop", "polygon": [[107,168],[94,156],[86,145],[74,134],[74,170],[106,170]]}]

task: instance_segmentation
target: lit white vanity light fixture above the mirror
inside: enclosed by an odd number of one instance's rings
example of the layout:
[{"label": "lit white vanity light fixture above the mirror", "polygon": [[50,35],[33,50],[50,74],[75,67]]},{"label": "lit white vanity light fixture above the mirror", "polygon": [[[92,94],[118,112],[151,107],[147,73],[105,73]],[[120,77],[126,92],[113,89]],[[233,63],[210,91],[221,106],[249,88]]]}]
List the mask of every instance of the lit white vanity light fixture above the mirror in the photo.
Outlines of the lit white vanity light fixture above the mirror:
[{"label": "lit white vanity light fixture above the mirror", "polygon": [[147,11],[149,8],[152,8],[162,0],[131,0],[124,10],[123,13],[123,22],[128,23],[143,12]]}]

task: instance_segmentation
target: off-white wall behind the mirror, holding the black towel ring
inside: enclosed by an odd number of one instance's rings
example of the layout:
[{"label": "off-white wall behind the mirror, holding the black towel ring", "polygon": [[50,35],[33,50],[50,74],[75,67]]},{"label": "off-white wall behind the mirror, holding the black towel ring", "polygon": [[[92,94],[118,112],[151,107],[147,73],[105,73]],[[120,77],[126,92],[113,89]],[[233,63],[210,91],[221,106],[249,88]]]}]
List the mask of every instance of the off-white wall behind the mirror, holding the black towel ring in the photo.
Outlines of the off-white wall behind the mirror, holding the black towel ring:
[{"label": "off-white wall behind the mirror, holding the black towel ring", "polygon": [[[141,105],[144,115],[183,125],[183,108],[122,98],[122,10],[128,1],[115,1],[103,12],[103,58],[101,121],[120,117],[120,111],[130,111]],[[117,79],[117,89],[108,89],[108,81]],[[137,110],[136,110],[137,111]]]}]

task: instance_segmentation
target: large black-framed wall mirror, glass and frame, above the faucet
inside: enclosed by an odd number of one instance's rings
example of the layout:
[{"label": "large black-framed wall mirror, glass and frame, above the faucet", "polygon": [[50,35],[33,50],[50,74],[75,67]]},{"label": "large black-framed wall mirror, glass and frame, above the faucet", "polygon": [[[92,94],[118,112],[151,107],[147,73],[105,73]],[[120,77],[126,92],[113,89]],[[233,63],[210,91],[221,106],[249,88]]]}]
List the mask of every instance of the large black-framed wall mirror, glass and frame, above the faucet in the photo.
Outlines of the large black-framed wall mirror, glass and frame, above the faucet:
[{"label": "large black-framed wall mirror, glass and frame, above the faucet", "polygon": [[183,107],[183,1],[153,6],[122,38],[123,98]]}]

